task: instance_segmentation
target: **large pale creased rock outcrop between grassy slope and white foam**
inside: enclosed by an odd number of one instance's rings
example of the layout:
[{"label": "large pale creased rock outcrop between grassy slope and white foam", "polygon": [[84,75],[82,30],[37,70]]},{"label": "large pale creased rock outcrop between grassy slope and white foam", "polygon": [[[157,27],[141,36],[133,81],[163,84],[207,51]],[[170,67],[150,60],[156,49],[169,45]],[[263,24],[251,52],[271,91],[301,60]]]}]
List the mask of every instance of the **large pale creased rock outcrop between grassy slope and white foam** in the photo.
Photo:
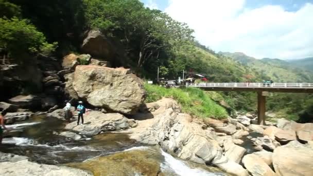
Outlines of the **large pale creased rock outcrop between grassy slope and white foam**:
[{"label": "large pale creased rock outcrop between grassy slope and white foam", "polygon": [[153,119],[134,128],[131,138],[146,144],[159,144],[183,160],[216,165],[235,175],[248,175],[242,166],[223,155],[215,133],[210,129],[203,130],[190,115],[180,113],[176,101],[164,98],[148,103],[146,107],[152,109]]}]

